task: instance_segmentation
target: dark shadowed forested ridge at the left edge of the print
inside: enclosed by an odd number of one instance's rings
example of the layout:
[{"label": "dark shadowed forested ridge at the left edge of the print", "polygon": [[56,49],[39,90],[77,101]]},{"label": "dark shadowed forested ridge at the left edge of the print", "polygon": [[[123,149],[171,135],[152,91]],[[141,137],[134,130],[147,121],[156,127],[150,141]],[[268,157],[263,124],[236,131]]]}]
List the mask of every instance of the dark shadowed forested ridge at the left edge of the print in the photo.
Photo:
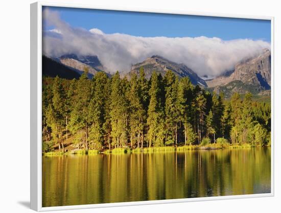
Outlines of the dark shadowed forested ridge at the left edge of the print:
[{"label": "dark shadowed forested ridge at the left edge of the print", "polygon": [[42,56],[42,75],[49,77],[60,77],[64,79],[79,79],[80,74],[58,61]]}]

